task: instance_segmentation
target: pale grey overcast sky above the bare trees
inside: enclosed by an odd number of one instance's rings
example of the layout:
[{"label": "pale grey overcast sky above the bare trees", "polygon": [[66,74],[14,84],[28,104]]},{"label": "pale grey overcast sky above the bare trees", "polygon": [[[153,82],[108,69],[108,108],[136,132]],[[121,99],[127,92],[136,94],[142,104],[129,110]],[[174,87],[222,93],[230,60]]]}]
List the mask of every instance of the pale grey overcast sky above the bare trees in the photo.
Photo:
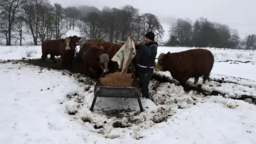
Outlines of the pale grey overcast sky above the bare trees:
[{"label": "pale grey overcast sky above the bare trees", "polygon": [[[89,5],[102,10],[104,5],[121,7],[133,5],[141,13],[150,12],[161,19],[164,29],[168,30],[166,22],[173,18],[206,17],[211,21],[220,22],[236,28],[241,38],[247,34],[256,34],[256,0],[50,0],[63,6]],[[165,33],[166,34],[166,33]]]}]

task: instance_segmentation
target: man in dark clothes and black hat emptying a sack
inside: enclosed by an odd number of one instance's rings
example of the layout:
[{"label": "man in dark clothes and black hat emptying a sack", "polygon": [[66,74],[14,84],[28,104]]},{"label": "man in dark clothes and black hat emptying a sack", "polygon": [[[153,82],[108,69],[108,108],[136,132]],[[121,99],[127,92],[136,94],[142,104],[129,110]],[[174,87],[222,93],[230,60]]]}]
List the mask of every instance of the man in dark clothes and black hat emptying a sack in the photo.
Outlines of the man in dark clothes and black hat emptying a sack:
[{"label": "man in dark clothes and black hat emptying a sack", "polygon": [[134,42],[135,48],[140,49],[138,61],[139,66],[139,85],[142,97],[150,98],[148,85],[155,68],[155,59],[158,43],[154,41],[155,34],[150,31],[145,35],[145,43]]}]

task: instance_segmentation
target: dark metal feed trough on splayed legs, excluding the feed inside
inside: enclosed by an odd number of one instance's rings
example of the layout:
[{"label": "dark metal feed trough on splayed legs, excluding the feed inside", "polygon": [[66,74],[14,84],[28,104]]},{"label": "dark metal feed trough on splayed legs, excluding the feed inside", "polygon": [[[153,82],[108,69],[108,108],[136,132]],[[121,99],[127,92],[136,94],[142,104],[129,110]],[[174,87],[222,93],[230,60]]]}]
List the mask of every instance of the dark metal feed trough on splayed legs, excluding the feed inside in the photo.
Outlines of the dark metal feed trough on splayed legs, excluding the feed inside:
[{"label": "dark metal feed trough on splayed legs, excluding the feed inside", "polygon": [[[133,79],[132,87],[101,86],[100,81],[98,81],[94,86],[94,98],[93,98],[90,110],[93,111],[93,107],[95,105],[97,97],[106,97],[106,98],[137,98],[140,106],[140,111],[143,111],[142,103],[140,100],[141,89],[139,88],[134,70],[129,67],[127,74],[131,74],[131,73],[132,73],[132,79]],[[101,77],[105,77],[105,74],[103,73]]]}]

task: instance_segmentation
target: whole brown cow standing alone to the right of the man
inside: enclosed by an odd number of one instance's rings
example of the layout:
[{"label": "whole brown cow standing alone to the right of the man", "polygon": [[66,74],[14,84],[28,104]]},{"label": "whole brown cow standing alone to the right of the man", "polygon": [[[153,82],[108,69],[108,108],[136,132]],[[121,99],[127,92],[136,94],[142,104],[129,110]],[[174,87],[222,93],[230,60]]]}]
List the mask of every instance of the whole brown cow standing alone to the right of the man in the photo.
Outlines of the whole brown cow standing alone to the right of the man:
[{"label": "whole brown cow standing alone to the right of the man", "polygon": [[213,67],[214,57],[211,51],[205,49],[193,49],[175,53],[161,53],[155,67],[156,71],[170,71],[172,77],[180,82],[186,91],[186,82],[194,77],[194,84],[203,76],[203,84],[206,79],[210,81],[210,73]]}]

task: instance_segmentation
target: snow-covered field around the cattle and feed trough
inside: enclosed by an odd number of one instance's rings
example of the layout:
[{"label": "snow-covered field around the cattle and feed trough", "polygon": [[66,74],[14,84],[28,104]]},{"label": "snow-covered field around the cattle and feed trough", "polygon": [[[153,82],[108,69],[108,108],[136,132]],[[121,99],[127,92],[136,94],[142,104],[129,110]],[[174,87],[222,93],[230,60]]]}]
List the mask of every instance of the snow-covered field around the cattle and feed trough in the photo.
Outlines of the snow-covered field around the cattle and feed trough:
[{"label": "snow-covered field around the cattle and feed trough", "polygon": [[[188,49],[158,47],[158,54]],[[212,81],[199,84],[210,94],[152,80],[154,102],[141,98],[143,113],[136,99],[114,98],[98,98],[91,112],[92,79],[1,62],[0,143],[256,143],[256,52],[207,49],[217,62]],[[0,46],[2,61],[41,55],[41,46]],[[171,79],[169,72],[159,74]],[[244,95],[251,99],[233,100]]]}]

